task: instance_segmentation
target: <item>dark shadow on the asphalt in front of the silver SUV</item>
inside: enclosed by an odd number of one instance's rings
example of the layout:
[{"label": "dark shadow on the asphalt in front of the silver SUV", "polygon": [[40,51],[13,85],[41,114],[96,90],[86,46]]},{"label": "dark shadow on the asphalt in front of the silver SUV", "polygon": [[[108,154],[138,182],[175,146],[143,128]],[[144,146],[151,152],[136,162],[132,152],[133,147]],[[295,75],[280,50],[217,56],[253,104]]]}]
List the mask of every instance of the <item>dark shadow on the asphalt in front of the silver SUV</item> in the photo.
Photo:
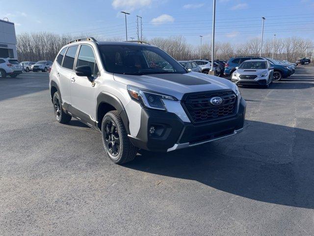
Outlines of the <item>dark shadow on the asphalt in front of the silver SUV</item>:
[{"label": "dark shadow on the asphalt in front of the silver SUV", "polygon": [[140,150],[125,166],[256,201],[314,208],[313,140],[310,130],[247,120],[233,137],[168,153]]}]

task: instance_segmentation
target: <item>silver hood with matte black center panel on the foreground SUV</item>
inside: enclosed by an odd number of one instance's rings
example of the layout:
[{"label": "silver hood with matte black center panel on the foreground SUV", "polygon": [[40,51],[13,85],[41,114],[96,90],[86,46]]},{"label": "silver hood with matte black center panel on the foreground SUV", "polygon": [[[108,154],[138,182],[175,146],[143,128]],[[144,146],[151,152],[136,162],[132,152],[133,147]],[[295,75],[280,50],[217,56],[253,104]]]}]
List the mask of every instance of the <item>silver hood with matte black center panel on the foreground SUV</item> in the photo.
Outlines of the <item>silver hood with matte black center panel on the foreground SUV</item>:
[{"label": "silver hood with matte black center panel on the foreground SUV", "polygon": [[186,74],[151,74],[151,75],[123,75],[114,74],[115,81],[175,96],[179,100],[183,94],[190,92],[232,89],[236,93],[236,85],[229,80],[189,72]]}]

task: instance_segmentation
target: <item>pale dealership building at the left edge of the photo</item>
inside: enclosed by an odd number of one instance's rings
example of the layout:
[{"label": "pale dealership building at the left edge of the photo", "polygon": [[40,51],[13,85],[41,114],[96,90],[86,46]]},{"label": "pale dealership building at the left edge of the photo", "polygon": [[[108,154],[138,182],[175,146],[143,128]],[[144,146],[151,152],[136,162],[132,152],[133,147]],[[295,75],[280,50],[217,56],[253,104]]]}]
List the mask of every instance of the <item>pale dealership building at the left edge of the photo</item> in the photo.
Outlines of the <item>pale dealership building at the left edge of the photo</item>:
[{"label": "pale dealership building at the left edge of the photo", "polygon": [[14,23],[0,20],[0,58],[18,58]]}]

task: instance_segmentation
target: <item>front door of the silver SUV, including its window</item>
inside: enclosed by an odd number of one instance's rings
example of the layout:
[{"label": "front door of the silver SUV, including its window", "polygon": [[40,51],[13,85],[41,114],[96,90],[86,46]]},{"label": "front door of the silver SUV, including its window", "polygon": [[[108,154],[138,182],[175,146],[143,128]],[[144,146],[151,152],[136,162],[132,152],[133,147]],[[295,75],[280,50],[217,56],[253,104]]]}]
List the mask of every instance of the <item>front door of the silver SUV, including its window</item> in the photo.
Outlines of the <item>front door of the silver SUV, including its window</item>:
[{"label": "front door of the silver SUV, including its window", "polygon": [[[96,120],[96,88],[99,76],[95,53],[90,45],[80,45],[76,66],[87,65],[91,67],[92,77],[78,76],[75,73],[71,79],[70,90],[72,106],[79,110],[80,118]],[[88,121],[85,120],[85,121]]]}]

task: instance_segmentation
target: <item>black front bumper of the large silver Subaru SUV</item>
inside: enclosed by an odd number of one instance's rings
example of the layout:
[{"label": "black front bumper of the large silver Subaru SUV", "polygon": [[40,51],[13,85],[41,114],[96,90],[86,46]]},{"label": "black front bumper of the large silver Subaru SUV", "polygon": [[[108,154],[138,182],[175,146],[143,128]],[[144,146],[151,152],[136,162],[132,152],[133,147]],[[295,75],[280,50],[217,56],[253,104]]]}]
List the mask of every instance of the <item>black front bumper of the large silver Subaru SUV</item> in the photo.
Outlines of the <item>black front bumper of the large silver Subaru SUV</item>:
[{"label": "black front bumper of the large silver Subaru SUV", "polygon": [[[183,122],[174,113],[142,109],[140,130],[136,137],[129,135],[129,138],[135,147],[150,151],[166,152],[193,147],[242,131],[245,110],[246,102],[241,98],[235,116],[193,124]],[[152,126],[156,127],[158,135],[149,133]]]}]

